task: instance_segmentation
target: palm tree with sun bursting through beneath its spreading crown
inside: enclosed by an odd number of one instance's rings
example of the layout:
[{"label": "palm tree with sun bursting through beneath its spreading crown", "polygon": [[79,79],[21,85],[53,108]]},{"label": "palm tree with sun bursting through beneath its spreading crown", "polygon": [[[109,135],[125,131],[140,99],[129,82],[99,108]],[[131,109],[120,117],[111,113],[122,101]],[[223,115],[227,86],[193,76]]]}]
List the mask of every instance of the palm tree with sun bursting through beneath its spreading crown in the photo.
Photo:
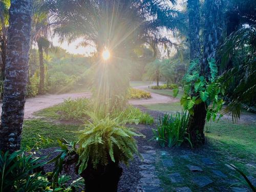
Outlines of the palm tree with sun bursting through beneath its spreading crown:
[{"label": "palm tree with sun bursting through beneath its spreading crown", "polygon": [[[98,69],[94,70],[97,77],[94,80],[95,94],[112,98],[113,107],[119,102],[117,100],[125,97],[129,86],[123,66],[130,62],[132,52],[141,45],[154,50],[158,44],[172,47],[172,41],[162,37],[160,31],[165,28],[175,32],[182,26],[176,19],[179,11],[170,8],[163,0],[45,0],[45,9],[50,10],[50,19],[56,27],[54,32],[59,35],[60,41],[66,39],[72,42],[80,38],[83,39],[82,46],[96,47],[97,63],[102,65],[96,65]],[[108,61],[111,65],[104,65],[101,60],[106,48],[111,52]],[[110,72],[112,74],[106,74]],[[103,80],[103,76],[108,80]],[[109,85],[108,89],[102,88],[106,85],[104,83]]]}]

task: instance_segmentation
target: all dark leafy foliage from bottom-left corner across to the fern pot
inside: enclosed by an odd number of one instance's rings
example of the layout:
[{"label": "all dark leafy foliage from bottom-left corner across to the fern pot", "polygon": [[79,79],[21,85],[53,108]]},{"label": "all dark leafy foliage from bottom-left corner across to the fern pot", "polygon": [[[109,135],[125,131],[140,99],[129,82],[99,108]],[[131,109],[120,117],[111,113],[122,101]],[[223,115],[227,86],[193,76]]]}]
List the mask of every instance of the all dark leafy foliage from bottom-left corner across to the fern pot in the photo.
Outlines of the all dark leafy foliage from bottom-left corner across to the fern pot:
[{"label": "all dark leafy foliage from bottom-left corner across to the fern pot", "polygon": [[[71,177],[59,176],[62,168],[57,172],[58,166],[56,165],[52,173],[42,175],[41,167],[47,163],[49,162],[45,160],[45,157],[34,157],[27,155],[24,151],[16,151],[12,154],[0,152],[0,191],[75,192],[76,189],[81,188],[81,183],[79,183],[81,178],[68,185]],[[51,174],[56,175],[56,180],[52,179]]]}]

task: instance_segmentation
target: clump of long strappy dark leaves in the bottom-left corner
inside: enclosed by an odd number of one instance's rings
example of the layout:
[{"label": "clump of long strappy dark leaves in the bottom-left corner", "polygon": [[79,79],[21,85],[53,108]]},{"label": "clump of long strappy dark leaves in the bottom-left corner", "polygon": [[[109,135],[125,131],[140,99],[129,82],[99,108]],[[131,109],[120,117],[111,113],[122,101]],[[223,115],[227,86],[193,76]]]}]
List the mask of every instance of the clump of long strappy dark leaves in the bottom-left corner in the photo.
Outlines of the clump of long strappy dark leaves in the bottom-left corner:
[{"label": "clump of long strappy dark leaves in the bottom-left corner", "polygon": [[40,162],[43,159],[26,156],[23,151],[0,152],[0,191],[42,191],[48,181],[40,172],[33,174],[33,170],[46,164]]}]

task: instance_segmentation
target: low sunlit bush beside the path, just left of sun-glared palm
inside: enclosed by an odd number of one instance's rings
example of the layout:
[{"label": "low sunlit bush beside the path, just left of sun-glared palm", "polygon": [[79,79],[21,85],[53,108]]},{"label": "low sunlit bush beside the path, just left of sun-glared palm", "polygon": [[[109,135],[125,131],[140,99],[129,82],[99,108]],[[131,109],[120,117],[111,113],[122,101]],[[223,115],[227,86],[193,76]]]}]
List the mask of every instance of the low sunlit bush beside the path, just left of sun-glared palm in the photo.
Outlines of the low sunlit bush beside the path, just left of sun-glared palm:
[{"label": "low sunlit bush beside the path, just left of sun-glared palm", "polygon": [[59,106],[61,116],[68,119],[84,119],[87,111],[92,110],[92,102],[87,98],[66,99]]}]

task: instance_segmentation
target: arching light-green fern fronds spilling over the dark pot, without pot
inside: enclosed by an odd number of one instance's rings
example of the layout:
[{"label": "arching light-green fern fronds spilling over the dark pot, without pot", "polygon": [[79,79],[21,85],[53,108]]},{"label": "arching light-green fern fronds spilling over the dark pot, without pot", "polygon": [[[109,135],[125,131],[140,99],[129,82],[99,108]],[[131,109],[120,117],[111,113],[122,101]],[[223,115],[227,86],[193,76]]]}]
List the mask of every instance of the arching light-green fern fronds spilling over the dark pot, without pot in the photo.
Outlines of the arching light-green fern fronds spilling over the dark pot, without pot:
[{"label": "arching light-green fern fronds spilling over the dark pot, without pot", "polygon": [[92,164],[106,165],[110,161],[128,164],[134,155],[140,154],[134,136],[142,136],[133,129],[119,124],[117,119],[106,117],[88,123],[78,141],[79,174]]}]

